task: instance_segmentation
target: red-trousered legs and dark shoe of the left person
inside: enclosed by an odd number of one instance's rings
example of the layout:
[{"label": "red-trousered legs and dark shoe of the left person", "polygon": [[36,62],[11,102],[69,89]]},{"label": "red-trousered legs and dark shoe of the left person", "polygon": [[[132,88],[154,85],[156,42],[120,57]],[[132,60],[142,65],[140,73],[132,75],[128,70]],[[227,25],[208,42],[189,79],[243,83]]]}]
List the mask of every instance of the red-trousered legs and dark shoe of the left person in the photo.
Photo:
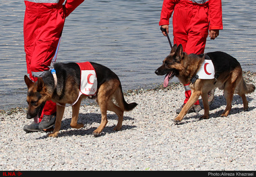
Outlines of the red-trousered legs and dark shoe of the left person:
[{"label": "red-trousered legs and dark shoe of the left person", "polygon": [[[37,81],[37,77],[42,77],[44,71],[49,70],[64,26],[64,15],[61,15],[62,9],[59,8],[49,8],[29,1],[25,3],[24,47],[27,69],[30,79]],[[40,120],[46,115],[44,119],[51,122],[49,118],[55,118],[55,112],[56,104],[52,101],[46,102]],[[32,125],[26,125],[24,131],[40,131],[40,129],[38,124],[32,123]]]}]

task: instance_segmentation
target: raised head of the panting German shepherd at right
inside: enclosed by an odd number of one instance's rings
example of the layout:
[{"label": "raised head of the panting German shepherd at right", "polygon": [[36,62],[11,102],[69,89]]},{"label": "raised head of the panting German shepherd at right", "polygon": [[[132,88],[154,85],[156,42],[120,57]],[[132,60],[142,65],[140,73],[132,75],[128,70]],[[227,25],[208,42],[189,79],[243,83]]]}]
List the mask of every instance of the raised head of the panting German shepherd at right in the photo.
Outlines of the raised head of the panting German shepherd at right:
[{"label": "raised head of the panting German shepherd at right", "polygon": [[[181,61],[184,59],[185,53],[183,52],[183,46],[174,44],[170,55],[168,55],[162,62],[162,66],[156,69],[156,75],[166,75],[166,79],[170,80],[174,75],[178,76],[181,70]],[[165,79],[165,80],[166,80]]]}]

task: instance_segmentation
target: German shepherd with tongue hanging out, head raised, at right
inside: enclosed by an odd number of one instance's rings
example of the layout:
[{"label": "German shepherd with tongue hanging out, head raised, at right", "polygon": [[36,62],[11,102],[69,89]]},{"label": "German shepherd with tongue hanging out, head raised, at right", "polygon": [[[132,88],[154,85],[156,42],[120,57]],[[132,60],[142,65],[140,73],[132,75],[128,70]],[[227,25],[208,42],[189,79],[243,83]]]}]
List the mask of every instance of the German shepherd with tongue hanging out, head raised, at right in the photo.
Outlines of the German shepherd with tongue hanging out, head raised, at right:
[{"label": "German shepherd with tongue hanging out, head raised, at right", "polygon": [[244,110],[248,110],[248,101],[245,94],[253,92],[255,85],[245,83],[240,63],[225,52],[208,52],[206,55],[210,57],[214,64],[214,79],[196,79],[193,81],[193,77],[195,77],[205,60],[205,55],[187,55],[186,52],[183,52],[183,46],[181,44],[178,47],[176,44],[173,46],[170,55],[164,59],[162,66],[155,71],[156,75],[166,74],[168,79],[176,76],[183,85],[190,83],[191,97],[179,115],[174,118],[174,122],[183,120],[183,117],[193,104],[195,104],[199,96],[203,100],[204,107],[204,114],[201,118],[209,118],[207,93],[215,87],[224,90],[224,97],[226,98],[226,109],[220,116],[228,116],[234,94],[241,96]]}]

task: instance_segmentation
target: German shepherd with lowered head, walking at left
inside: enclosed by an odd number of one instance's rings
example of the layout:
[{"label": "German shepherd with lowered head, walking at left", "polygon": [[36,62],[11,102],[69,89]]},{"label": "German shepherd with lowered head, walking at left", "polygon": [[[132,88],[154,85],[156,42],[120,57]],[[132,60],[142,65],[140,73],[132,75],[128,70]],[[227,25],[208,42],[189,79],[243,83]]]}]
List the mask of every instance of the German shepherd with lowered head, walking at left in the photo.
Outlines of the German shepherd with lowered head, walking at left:
[{"label": "German shepherd with lowered head, walking at left", "polygon": [[[106,111],[110,110],[117,114],[119,117],[115,131],[119,131],[122,127],[123,112],[129,111],[135,108],[137,104],[135,102],[127,104],[123,97],[121,82],[119,77],[107,67],[103,65],[92,63],[96,75],[97,75],[97,87],[96,101],[100,106],[102,114],[100,126],[93,132],[93,135],[97,137],[100,135],[106,123]],[[49,134],[49,137],[57,137],[59,130],[61,129],[61,120],[65,110],[65,104],[72,104],[77,100],[80,87],[80,68],[77,63],[55,63],[54,69],[57,75],[57,87],[55,87],[55,81],[51,71],[44,73],[42,77],[38,77],[38,81],[33,82],[24,76],[26,85],[28,86],[28,113],[27,118],[34,118],[42,112],[42,108],[47,100],[52,100],[57,103],[57,116],[55,121],[55,129],[53,133]],[[80,96],[79,100],[72,106],[72,119],[70,126],[75,129],[84,127],[83,124],[77,124],[79,107],[82,98],[87,96]],[[113,102],[115,100],[116,104]],[[59,104],[59,105],[58,105]]]}]

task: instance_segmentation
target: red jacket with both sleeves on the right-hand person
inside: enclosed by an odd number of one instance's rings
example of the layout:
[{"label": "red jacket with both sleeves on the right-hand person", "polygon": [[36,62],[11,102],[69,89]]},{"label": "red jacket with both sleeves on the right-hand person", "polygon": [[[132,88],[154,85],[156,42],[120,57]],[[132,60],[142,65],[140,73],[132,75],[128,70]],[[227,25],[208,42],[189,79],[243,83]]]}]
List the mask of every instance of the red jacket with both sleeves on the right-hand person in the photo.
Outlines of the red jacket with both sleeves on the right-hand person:
[{"label": "red jacket with both sleeves on the right-hand person", "polygon": [[200,5],[208,9],[209,30],[222,30],[222,1],[221,0],[164,0],[162,5],[159,25],[168,25],[175,5],[182,3],[185,5]]}]

